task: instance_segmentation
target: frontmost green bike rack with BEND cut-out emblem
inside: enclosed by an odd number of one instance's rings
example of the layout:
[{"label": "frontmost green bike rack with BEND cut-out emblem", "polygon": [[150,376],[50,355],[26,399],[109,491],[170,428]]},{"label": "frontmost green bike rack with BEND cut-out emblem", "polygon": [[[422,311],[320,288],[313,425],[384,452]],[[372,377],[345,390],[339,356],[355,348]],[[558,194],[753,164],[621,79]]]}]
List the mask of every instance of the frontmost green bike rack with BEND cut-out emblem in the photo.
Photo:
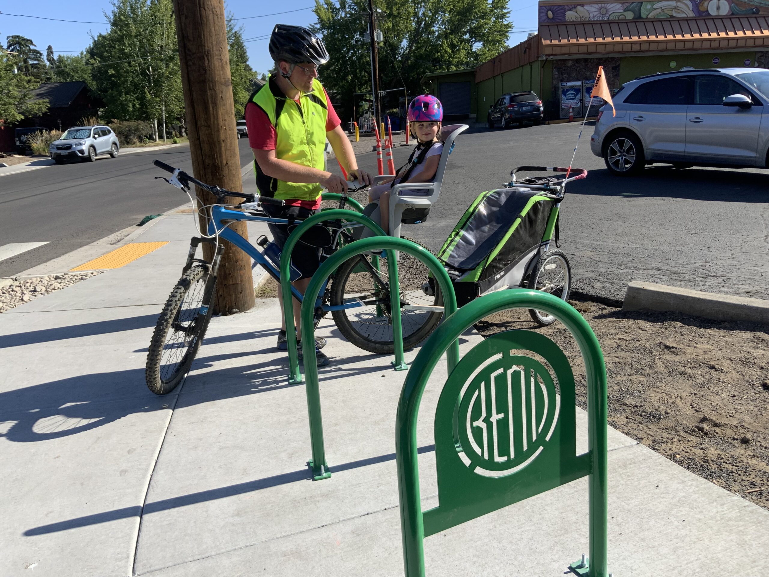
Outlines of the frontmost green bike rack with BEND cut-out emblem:
[{"label": "frontmost green bike rack with BEND cut-out emblem", "polygon": [[[417,462],[422,392],[458,335],[505,309],[548,312],[574,335],[588,374],[588,452],[575,455],[574,375],[558,345],[532,331],[492,335],[449,370],[434,421],[439,504],[423,512]],[[494,292],[444,320],[414,359],[398,402],[395,450],[405,575],[424,577],[425,536],[589,475],[589,556],[569,568],[578,575],[605,577],[606,395],[598,339],[571,305],[553,295],[524,288]]]}]

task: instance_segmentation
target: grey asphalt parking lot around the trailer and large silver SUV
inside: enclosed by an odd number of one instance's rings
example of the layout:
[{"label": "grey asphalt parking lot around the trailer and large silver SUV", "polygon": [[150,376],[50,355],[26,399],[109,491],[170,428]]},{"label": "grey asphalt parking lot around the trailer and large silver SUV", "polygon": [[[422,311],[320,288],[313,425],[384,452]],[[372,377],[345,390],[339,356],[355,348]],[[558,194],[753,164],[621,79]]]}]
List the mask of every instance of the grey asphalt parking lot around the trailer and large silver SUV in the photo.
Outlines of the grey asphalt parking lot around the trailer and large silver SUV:
[{"label": "grey asphalt parking lot around the trailer and large silver SUV", "polygon": [[[472,200],[521,165],[568,165],[580,125],[477,129],[460,135],[428,220],[401,234],[441,248]],[[574,289],[611,300],[630,281],[769,299],[769,172],[652,165],[640,176],[609,174],[584,127],[574,166],[588,178],[568,185],[561,249]],[[396,165],[407,148],[394,150]],[[375,170],[373,154],[362,168]]]}]

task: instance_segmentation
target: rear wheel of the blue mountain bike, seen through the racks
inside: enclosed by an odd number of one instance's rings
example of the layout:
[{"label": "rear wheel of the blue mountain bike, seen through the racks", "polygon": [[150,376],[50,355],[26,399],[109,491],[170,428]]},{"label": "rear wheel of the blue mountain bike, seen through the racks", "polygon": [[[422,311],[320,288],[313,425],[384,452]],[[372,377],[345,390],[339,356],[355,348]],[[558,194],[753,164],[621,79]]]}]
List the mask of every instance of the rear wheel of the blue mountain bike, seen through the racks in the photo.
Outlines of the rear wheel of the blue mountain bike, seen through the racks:
[{"label": "rear wheel of the blue mountain bike, seen through the racks", "polygon": [[[406,237],[401,237],[406,238]],[[420,242],[407,238],[427,249]],[[359,349],[379,354],[394,351],[392,316],[388,286],[387,260],[380,258],[380,278],[385,285],[376,282],[375,275],[366,267],[371,256],[357,255],[343,262],[331,282],[331,305],[342,305],[360,300],[365,305],[355,309],[332,311],[331,315],[342,335]],[[398,281],[401,288],[401,307],[442,306],[443,296],[438,285],[428,277],[428,267],[421,260],[405,252],[398,258]],[[424,288],[423,288],[424,287]],[[432,292],[432,295],[428,295]],[[441,322],[443,312],[420,309],[401,309],[403,349],[413,349],[433,332]]]}]

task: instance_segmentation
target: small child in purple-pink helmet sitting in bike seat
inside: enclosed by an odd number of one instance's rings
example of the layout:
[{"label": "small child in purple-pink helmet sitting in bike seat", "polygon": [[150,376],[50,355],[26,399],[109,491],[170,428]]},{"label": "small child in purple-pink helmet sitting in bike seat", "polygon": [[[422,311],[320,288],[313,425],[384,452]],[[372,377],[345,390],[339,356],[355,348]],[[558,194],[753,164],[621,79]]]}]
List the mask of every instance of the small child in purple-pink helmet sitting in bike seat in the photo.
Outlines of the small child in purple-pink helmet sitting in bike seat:
[{"label": "small child in purple-pink helmet sitting in bike seat", "polygon": [[[411,152],[408,162],[398,168],[394,176],[385,178],[381,184],[372,186],[368,191],[371,202],[379,200],[381,227],[388,234],[390,232],[390,188],[401,182],[432,182],[435,172],[438,171],[438,162],[441,160],[443,151],[443,142],[439,140],[442,120],[443,106],[434,96],[428,94],[417,96],[408,105],[408,129],[411,131],[411,136],[418,141],[414,152]],[[414,190],[401,190],[398,195],[428,196],[430,191],[414,188]]]}]

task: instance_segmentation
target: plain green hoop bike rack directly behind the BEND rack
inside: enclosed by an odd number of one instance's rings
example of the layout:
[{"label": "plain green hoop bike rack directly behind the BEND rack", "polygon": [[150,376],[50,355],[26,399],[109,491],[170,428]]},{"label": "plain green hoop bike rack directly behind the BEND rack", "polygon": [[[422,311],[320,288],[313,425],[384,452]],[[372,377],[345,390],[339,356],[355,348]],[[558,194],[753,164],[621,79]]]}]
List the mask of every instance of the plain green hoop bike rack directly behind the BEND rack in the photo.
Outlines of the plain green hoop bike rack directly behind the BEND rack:
[{"label": "plain green hoop bike rack directly behind the BEND rack", "polygon": [[[325,213],[330,214],[331,212]],[[309,220],[309,219],[308,219]],[[308,222],[308,221],[305,221]],[[454,297],[454,288],[451,286],[451,278],[449,278],[446,270],[438,261],[438,258],[422,248],[415,245],[413,242],[406,240],[405,238],[393,238],[387,237],[371,237],[364,238],[359,241],[352,242],[351,244],[341,248],[333,255],[331,255],[326,262],[318,268],[315,275],[312,275],[312,280],[305,293],[305,299],[301,303],[301,339],[304,342],[315,341],[315,325],[312,322],[312,315],[314,313],[313,303],[318,297],[318,293],[321,291],[321,286],[325,282],[332,272],[334,272],[342,262],[345,262],[349,258],[355,255],[361,254],[361,252],[368,252],[371,250],[384,249],[388,251],[388,274],[390,279],[390,306],[393,325],[393,339],[396,343],[400,341],[401,350],[403,349],[402,328],[401,328],[401,296],[398,288],[398,267],[395,259],[392,257],[393,251],[405,252],[416,258],[419,258],[425,265],[428,265],[430,271],[438,281],[438,286],[441,288],[441,294],[443,295],[444,302],[444,314],[446,316],[452,315],[457,310],[457,299]],[[453,369],[459,361],[459,335],[454,338],[453,342],[446,344],[443,351],[447,352],[447,362],[449,370]],[[438,355],[440,357],[441,355]],[[417,357],[418,358],[418,357]],[[396,362],[397,362],[396,355]],[[323,442],[323,419],[321,417],[321,393],[318,387],[318,359],[315,355],[305,356],[305,372],[307,373],[307,383],[305,388],[307,391],[307,409],[310,418],[310,442],[312,447],[312,459],[308,461],[308,465],[312,470],[312,478],[315,481],[320,479],[328,479],[331,476],[331,471],[328,469],[328,463],[325,459],[325,445]],[[411,374],[411,371],[409,372]]]}]

